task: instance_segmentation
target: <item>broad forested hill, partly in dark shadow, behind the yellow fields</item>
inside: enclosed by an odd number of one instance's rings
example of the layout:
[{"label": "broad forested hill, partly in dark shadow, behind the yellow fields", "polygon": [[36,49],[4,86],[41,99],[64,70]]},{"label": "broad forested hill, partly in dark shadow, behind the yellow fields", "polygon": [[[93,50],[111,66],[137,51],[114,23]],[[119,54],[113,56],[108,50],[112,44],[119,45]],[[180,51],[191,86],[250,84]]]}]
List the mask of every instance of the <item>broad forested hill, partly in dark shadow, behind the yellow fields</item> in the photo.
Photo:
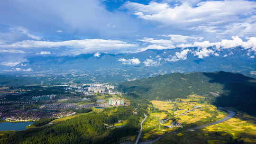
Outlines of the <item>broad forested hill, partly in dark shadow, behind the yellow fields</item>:
[{"label": "broad forested hill, partly in dark shadow, behind the yellow fields", "polygon": [[198,94],[216,105],[256,115],[256,80],[238,73],[172,73],[121,83],[118,90],[139,99],[167,100]]}]

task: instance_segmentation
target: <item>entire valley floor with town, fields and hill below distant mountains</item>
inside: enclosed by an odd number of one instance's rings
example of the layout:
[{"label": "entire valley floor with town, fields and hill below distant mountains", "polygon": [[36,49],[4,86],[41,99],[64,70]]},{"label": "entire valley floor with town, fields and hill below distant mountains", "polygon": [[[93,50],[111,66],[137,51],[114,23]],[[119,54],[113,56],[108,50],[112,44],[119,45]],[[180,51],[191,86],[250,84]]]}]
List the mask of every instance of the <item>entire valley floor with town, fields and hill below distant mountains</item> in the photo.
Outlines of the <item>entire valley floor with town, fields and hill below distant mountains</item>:
[{"label": "entire valley floor with town, fields and hill below distant mountains", "polygon": [[255,103],[248,100],[254,99],[254,78],[192,72],[114,85],[2,87],[2,122],[36,122],[26,130],[1,131],[0,143],[256,143]]}]

